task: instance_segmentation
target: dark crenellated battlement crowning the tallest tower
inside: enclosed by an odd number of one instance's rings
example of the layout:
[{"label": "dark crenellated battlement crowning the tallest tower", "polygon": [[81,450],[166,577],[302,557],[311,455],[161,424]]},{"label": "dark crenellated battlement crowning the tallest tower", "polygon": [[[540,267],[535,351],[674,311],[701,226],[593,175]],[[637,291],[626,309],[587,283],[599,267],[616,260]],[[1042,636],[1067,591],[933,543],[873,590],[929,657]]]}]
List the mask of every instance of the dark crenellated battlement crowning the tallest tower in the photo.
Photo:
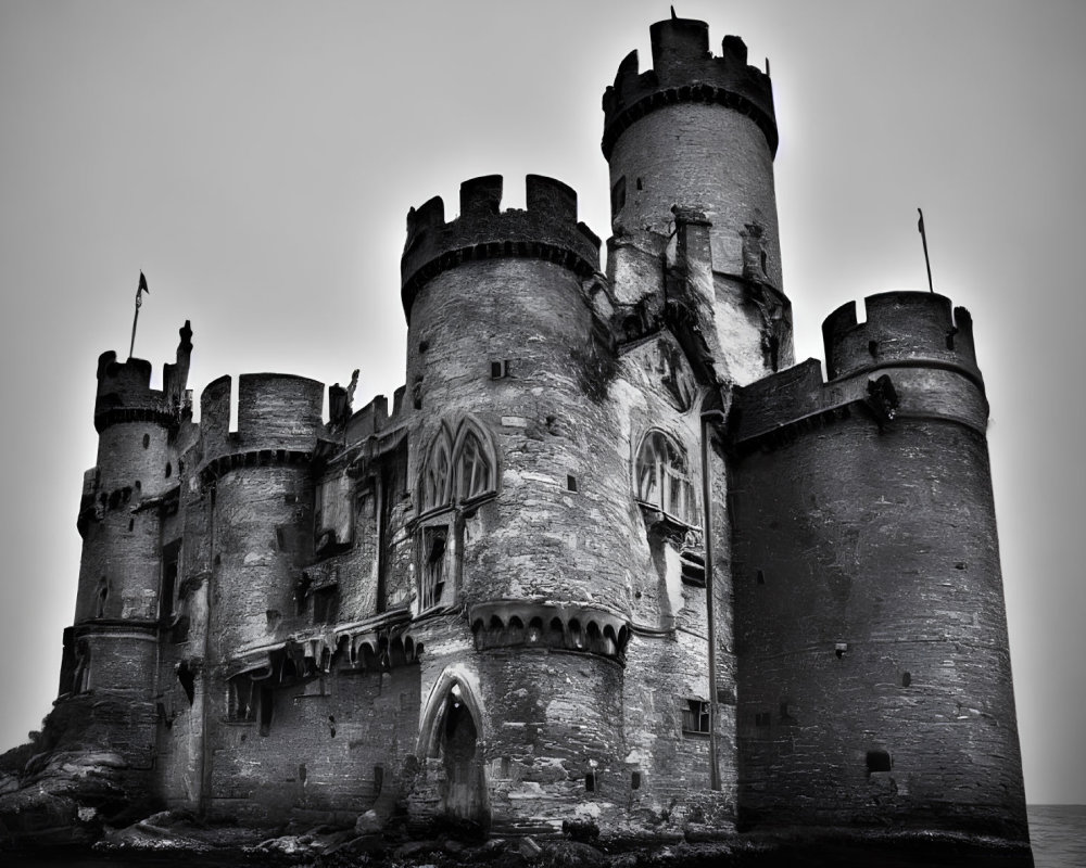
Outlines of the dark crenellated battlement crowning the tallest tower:
[{"label": "dark crenellated battlement crowning the tallest tower", "polygon": [[747,115],[776,153],[776,115],[769,75],[747,64],[747,49],[737,36],[725,36],[719,58],[709,52],[709,25],[692,18],[670,18],[652,25],[653,68],[640,72],[637,52],[619,64],[615,84],[604,91],[603,152],[622,131],[649,112],[679,102],[718,103]]}]

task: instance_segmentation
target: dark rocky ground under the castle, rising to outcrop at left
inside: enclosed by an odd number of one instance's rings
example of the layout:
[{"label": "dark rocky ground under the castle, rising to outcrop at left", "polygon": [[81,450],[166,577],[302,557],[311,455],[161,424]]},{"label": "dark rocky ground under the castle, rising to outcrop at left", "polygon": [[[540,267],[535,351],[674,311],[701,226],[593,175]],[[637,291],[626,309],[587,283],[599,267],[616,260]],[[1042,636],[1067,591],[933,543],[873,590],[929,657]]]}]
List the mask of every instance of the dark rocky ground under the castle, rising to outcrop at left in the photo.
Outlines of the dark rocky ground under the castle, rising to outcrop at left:
[{"label": "dark rocky ground under the castle, rising to outcrop at left", "polygon": [[[485,839],[450,827],[425,837],[367,812],[337,825],[300,819],[274,831],[188,812],[157,812],[125,791],[125,764],[108,751],[54,751],[17,777],[0,774],[0,864],[33,865],[42,853],[86,857],[176,856],[187,868],[1025,868],[1027,846],[964,833],[776,828],[722,834],[697,825],[601,833],[591,822],[563,834]],[[22,858],[20,858],[22,856]],[[16,861],[12,861],[12,857]],[[135,864],[139,864],[137,860]],[[155,863],[161,864],[160,861]]]}]

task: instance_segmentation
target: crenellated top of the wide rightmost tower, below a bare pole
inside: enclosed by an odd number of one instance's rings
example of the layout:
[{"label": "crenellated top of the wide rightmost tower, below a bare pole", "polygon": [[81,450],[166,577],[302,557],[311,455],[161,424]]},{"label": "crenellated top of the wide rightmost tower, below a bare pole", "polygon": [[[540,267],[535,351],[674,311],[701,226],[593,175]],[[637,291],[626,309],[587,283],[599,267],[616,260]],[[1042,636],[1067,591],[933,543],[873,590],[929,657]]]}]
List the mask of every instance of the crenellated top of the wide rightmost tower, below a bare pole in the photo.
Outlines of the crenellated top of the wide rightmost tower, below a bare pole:
[{"label": "crenellated top of the wide rightmost tower, below a bare pole", "polygon": [[834,310],[822,323],[830,380],[894,365],[952,366],[981,384],[973,348],[973,319],[963,307],[929,292],[886,292],[864,302],[867,320],[858,322],[856,304]]}]

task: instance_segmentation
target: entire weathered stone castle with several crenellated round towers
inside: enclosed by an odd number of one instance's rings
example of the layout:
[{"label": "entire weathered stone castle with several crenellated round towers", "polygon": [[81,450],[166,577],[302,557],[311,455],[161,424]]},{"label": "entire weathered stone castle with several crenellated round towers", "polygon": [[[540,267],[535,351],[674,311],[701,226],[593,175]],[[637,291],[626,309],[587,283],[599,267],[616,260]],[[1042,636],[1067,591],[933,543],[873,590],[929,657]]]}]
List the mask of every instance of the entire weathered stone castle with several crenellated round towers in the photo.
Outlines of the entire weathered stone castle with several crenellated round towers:
[{"label": "entire weathered stone castle with several crenellated round towers", "polygon": [[[407,215],[406,380],[98,365],[58,709],[134,791],[494,833],[1026,837],[972,321],[848,303],[795,363],[769,76],[652,27],[559,181]],[[231,431],[231,412],[237,430]]]}]

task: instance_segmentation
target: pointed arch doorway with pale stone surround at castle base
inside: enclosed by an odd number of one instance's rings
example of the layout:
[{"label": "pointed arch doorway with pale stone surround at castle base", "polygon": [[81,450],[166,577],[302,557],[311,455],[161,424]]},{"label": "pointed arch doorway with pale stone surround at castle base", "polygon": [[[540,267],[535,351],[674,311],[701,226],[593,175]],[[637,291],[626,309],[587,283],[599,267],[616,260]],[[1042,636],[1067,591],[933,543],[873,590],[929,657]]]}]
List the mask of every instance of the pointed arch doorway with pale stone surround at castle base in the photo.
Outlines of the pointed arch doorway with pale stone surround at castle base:
[{"label": "pointed arch doorway with pale stone surround at castle base", "polygon": [[[418,753],[440,761],[438,810],[444,816],[490,828],[490,797],[483,756],[482,714],[478,686],[459,667],[442,673],[427,702]],[[437,771],[438,769],[433,769]]]}]

